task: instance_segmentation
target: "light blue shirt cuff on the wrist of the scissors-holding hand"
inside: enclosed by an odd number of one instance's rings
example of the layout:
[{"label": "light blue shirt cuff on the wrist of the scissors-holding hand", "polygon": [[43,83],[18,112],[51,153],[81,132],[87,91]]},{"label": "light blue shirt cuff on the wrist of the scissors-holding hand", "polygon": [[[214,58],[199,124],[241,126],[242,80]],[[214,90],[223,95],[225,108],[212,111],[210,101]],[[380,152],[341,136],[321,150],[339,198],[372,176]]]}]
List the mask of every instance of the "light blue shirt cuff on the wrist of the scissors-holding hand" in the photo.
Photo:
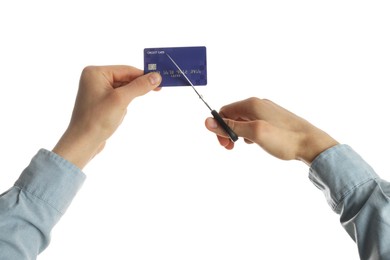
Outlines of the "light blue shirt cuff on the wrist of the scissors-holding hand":
[{"label": "light blue shirt cuff on the wrist of the scissors-holding hand", "polygon": [[340,213],[339,205],[355,189],[378,178],[371,166],[345,144],[322,152],[309,171],[309,179],[323,191],[336,213]]}]

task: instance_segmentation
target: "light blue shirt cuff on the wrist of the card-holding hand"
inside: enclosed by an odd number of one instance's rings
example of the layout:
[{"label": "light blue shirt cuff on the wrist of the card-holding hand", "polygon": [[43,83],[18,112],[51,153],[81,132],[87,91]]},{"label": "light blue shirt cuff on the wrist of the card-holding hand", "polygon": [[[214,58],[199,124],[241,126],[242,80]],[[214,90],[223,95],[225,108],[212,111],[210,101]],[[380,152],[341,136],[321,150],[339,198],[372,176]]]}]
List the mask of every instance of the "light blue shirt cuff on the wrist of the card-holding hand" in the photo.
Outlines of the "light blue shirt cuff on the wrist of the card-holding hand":
[{"label": "light blue shirt cuff on the wrist of the card-holding hand", "polygon": [[59,155],[41,149],[15,186],[63,214],[85,181],[85,174]]}]

